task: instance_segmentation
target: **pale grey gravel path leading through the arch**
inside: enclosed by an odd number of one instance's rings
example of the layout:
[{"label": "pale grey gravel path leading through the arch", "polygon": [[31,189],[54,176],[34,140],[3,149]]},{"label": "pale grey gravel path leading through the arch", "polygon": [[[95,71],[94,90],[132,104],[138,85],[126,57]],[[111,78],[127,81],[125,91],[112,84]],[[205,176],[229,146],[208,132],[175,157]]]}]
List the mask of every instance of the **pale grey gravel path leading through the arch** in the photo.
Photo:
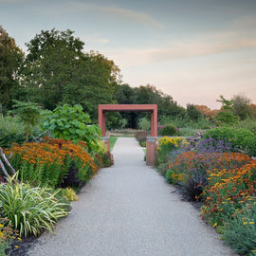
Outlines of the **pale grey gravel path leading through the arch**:
[{"label": "pale grey gravel path leading through the arch", "polygon": [[29,256],[235,255],[199,212],[145,165],[135,138],[119,138],[112,153],[115,165],[82,189],[55,235],[45,232]]}]

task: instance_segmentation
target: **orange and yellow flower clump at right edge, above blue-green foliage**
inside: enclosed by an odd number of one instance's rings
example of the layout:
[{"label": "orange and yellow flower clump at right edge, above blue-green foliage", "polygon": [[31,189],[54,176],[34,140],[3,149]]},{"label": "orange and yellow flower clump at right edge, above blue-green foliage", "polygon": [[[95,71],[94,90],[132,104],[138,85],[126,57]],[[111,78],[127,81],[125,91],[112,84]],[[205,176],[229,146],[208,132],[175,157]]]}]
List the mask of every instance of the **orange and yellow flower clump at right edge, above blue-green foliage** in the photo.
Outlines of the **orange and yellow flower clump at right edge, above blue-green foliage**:
[{"label": "orange and yellow flower clump at right edge, above blue-green foliage", "polygon": [[247,201],[247,196],[256,192],[256,161],[248,159],[245,165],[232,169],[211,169],[207,174],[209,184],[203,194],[202,215],[211,224],[222,226],[222,215],[234,213],[230,205],[233,209],[240,209],[241,203]]}]

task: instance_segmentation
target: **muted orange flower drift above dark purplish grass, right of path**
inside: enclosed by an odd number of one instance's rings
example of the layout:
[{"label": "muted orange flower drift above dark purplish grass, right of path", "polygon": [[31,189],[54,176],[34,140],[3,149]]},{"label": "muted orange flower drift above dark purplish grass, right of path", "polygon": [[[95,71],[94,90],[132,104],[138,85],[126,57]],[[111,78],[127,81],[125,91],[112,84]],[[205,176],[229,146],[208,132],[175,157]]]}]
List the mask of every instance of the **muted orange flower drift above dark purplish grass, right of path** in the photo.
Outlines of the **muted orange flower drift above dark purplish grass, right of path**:
[{"label": "muted orange flower drift above dark purplish grass, right of path", "polygon": [[178,183],[191,200],[199,200],[200,194],[208,184],[207,170],[231,169],[243,166],[250,157],[240,153],[205,153],[184,152],[177,155],[169,164],[166,180]]}]

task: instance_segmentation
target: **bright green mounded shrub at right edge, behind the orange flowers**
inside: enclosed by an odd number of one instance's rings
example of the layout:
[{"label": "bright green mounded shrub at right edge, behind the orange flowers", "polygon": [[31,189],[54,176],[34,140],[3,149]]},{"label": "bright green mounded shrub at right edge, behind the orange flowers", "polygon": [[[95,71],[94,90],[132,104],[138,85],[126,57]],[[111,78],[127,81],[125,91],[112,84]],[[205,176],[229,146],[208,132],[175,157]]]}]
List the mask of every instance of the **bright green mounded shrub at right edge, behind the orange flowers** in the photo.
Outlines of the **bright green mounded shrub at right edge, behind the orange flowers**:
[{"label": "bright green mounded shrub at right edge, behind the orange flowers", "polygon": [[256,155],[256,136],[247,129],[231,129],[229,127],[219,127],[207,131],[204,138],[212,137],[214,139],[227,138],[233,145],[234,151],[239,147],[248,155]]}]

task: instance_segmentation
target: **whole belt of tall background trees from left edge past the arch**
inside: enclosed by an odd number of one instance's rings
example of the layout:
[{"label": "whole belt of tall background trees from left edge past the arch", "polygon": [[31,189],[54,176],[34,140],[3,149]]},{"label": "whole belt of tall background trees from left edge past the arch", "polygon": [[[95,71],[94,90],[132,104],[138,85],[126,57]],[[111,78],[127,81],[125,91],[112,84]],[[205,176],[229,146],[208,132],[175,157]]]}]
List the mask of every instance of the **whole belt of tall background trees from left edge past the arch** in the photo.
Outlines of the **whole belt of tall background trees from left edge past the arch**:
[{"label": "whole belt of tall background trees from left edge past the arch", "polygon": [[[84,53],[84,43],[69,29],[42,30],[26,46],[27,54],[0,26],[1,115],[12,109],[12,100],[18,100],[49,110],[79,103],[93,122],[98,120],[98,104],[103,103],[157,104],[160,118],[207,116],[198,106],[188,104],[185,109],[177,105],[154,85],[122,84],[119,66],[99,52]],[[234,111],[234,115],[242,115],[237,108]],[[144,117],[149,118],[149,113],[108,113],[107,125],[136,128],[138,119]]]}]

